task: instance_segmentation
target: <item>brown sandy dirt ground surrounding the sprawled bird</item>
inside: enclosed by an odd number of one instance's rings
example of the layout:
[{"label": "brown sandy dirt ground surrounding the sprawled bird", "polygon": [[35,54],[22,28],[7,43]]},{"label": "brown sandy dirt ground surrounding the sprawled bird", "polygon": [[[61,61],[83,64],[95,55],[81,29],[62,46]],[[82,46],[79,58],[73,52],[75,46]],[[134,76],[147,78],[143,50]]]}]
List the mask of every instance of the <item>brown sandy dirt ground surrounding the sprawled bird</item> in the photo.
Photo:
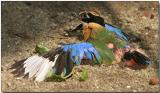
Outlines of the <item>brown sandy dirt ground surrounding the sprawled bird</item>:
[{"label": "brown sandy dirt ground surrounding the sprawled bird", "polygon": [[[149,85],[156,76],[158,39],[158,2],[2,2],[2,91],[116,91],[156,92]],[[63,82],[35,82],[14,77],[11,65],[34,54],[37,43],[49,48],[59,43],[78,42],[64,37],[65,30],[78,25],[74,14],[98,9],[105,21],[123,29],[153,60],[147,69],[131,70],[119,65],[77,66],[86,68],[89,79],[80,82],[74,76]]]}]

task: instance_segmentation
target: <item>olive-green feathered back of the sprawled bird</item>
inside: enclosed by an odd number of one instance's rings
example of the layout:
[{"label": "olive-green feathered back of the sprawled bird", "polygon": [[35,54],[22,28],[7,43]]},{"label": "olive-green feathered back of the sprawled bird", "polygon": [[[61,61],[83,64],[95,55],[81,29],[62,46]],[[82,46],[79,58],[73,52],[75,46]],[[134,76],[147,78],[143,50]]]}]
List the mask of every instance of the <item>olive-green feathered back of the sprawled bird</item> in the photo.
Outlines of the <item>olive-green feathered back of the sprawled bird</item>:
[{"label": "olive-green feathered back of the sprawled bird", "polygon": [[109,49],[107,44],[113,43],[118,48],[124,48],[124,46],[127,44],[125,40],[118,39],[113,32],[106,30],[96,31],[96,34],[94,34],[94,39],[89,42],[92,43],[98,50],[100,56],[103,59],[103,62],[109,64],[112,63],[112,61],[115,59],[115,56],[113,50]]}]

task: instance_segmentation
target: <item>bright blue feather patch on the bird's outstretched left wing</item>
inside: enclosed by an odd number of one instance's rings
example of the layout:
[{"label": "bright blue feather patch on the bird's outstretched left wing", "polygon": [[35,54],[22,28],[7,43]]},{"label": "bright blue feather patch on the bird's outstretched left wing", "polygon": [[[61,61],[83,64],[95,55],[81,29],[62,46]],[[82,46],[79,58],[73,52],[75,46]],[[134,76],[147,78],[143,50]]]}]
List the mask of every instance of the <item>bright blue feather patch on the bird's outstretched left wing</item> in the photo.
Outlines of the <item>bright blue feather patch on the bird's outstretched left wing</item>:
[{"label": "bright blue feather patch on the bird's outstretched left wing", "polygon": [[93,60],[94,57],[97,60],[101,58],[98,51],[94,48],[94,46],[91,43],[82,42],[69,44],[62,46],[62,48],[64,52],[70,51],[70,59],[77,65],[81,64],[81,61],[84,57],[86,57],[89,60]]}]

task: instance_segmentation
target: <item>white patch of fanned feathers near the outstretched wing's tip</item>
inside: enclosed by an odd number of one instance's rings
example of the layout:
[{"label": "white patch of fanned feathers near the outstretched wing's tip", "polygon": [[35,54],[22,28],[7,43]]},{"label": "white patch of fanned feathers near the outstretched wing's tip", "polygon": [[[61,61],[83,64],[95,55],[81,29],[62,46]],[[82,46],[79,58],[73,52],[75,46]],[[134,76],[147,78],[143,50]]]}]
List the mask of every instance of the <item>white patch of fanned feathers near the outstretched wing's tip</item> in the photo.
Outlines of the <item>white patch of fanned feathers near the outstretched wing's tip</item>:
[{"label": "white patch of fanned feathers near the outstretched wing's tip", "polygon": [[29,74],[29,78],[35,77],[36,81],[43,81],[49,69],[55,66],[58,57],[59,54],[55,55],[54,61],[50,61],[38,55],[31,56],[24,62],[24,74]]}]

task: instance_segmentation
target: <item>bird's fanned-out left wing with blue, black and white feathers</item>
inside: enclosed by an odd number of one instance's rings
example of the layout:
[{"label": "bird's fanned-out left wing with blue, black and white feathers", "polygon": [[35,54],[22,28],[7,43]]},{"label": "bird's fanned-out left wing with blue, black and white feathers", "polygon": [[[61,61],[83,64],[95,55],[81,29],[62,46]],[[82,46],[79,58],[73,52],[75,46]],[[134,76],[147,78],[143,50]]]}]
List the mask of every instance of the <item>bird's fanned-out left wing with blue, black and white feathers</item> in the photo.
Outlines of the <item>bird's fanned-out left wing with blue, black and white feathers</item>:
[{"label": "bird's fanned-out left wing with blue, black and white feathers", "polygon": [[24,75],[43,81],[47,74],[60,75],[67,78],[71,75],[74,65],[80,65],[83,59],[100,64],[101,57],[91,43],[75,43],[52,49],[43,56],[34,55],[23,62]]}]

